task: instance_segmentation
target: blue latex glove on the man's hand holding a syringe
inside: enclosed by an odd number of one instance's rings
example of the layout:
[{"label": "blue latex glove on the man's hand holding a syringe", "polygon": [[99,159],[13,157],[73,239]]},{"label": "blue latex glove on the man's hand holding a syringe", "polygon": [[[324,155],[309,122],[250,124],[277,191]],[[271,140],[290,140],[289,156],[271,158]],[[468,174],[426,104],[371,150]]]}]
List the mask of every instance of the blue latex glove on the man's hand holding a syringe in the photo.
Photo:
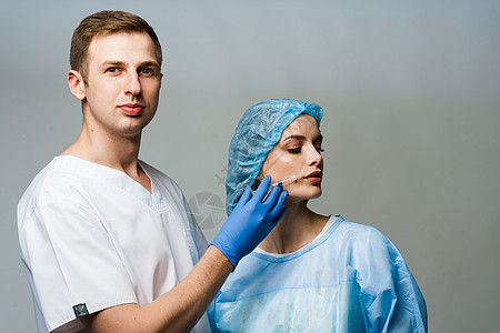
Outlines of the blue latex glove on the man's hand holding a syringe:
[{"label": "blue latex glove on the man's hand holding a syringe", "polygon": [[210,243],[219,249],[234,268],[241,258],[262,242],[287,210],[282,205],[288,192],[282,191],[281,185],[274,186],[266,198],[270,184],[271,176],[264,176],[253,196],[247,188],[231,215]]}]

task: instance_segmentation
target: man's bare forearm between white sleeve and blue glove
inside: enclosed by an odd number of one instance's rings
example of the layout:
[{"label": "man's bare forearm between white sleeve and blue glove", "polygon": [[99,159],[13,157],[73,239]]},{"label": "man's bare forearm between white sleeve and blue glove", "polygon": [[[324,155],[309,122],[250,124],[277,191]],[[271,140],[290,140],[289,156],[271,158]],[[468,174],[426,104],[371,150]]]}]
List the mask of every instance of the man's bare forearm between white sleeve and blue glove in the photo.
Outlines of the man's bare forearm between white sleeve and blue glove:
[{"label": "man's bare forearm between white sleeve and blue glove", "polygon": [[150,304],[117,305],[80,320],[92,332],[188,332],[232,269],[222,252],[209,246],[186,279]]}]

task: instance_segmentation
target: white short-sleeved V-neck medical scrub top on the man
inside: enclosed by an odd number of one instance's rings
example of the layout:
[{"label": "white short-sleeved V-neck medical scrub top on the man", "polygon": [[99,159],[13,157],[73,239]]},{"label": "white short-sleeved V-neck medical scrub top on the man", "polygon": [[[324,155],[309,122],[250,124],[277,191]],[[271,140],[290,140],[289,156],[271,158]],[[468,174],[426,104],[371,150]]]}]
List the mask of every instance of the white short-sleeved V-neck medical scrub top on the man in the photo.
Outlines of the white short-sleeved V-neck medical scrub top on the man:
[{"label": "white short-sleeved V-neck medical scrub top on the man", "polygon": [[[151,193],[121,171],[71,155],[54,158],[24,192],[19,241],[39,332],[76,332],[86,313],[147,305],[207,249],[180,188],[140,167]],[[203,315],[193,332],[207,331]]]}]

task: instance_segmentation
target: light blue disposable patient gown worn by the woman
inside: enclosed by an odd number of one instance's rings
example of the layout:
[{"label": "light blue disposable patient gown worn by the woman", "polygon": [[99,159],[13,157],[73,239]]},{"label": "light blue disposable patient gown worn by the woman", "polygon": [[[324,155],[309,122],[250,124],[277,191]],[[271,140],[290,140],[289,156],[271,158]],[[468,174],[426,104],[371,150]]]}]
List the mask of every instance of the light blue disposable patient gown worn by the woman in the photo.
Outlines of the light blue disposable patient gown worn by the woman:
[{"label": "light blue disposable patient gown worn by the woman", "polygon": [[374,228],[329,224],[297,252],[243,258],[209,309],[212,329],[426,332],[426,301],[398,249]]}]

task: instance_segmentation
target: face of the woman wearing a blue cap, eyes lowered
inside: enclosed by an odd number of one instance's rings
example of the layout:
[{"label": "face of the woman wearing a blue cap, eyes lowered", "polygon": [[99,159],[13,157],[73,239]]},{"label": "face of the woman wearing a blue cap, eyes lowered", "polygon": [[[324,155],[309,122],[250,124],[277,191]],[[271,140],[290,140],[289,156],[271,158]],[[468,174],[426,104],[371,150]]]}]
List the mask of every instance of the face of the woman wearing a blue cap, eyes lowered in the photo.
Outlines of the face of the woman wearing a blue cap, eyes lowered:
[{"label": "face of the woman wearing a blue cap, eyes lowered", "polygon": [[316,119],[301,114],[284,129],[280,141],[271,149],[260,170],[260,176],[271,175],[272,182],[301,175],[283,184],[290,199],[314,199],[321,195],[323,158],[321,135]]}]

